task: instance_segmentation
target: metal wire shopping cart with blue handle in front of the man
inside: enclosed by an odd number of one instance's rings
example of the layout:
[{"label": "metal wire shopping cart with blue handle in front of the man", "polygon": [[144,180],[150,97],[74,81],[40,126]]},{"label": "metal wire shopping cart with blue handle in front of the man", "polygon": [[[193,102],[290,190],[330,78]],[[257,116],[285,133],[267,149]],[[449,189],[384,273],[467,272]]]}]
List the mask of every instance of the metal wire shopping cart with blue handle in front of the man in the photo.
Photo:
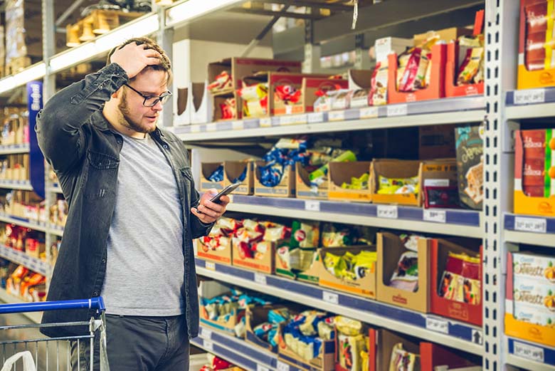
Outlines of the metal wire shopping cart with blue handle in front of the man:
[{"label": "metal wire shopping cart with blue handle in front of the man", "polygon": [[[1,304],[0,314],[8,313],[28,313],[42,312],[45,310],[68,310],[68,309],[93,309],[96,310],[95,317],[91,317],[88,321],[70,322],[70,323],[48,323],[48,324],[31,324],[31,325],[6,325],[0,326],[0,337],[10,338],[12,340],[0,340],[0,360],[1,365],[6,370],[71,370],[70,352],[71,342],[77,342],[77,349],[80,342],[90,342],[90,371],[93,371],[94,348],[95,344],[99,346],[100,354],[100,371],[110,371],[106,353],[106,328],[105,328],[105,306],[102,298],[92,298],[73,301],[46,301],[42,303],[16,303]],[[87,331],[83,335],[69,336],[63,338],[35,338],[33,340],[23,340],[21,333],[38,332],[40,328],[45,327],[81,327],[87,326]],[[34,329],[34,330],[33,330]],[[38,335],[37,335],[38,336]],[[95,342],[95,336],[97,342]],[[1,339],[0,338],[0,339]],[[13,340],[16,338],[16,340]],[[99,345],[100,344],[100,345]],[[60,353],[67,353],[62,355]],[[80,365],[80,352],[78,353],[78,365]],[[18,358],[21,357],[19,361]],[[31,360],[32,357],[32,360]],[[55,359],[52,359],[52,358]],[[15,362],[14,360],[18,360]],[[39,363],[38,361],[41,360]],[[14,362],[14,368],[10,365]],[[65,363],[65,367],[64,367]],[[41,367],[39,368],[39,365]],[[50,366],[50,369],[49,369]],[[8,368],[9,367],[9,368]],[[79,370],[83,370],[78,366]],[[4,370],[4,367],[1,369]],[[87,371],[87,370],[83,370]],[[97,371],[97,370],[95,370]]]}]

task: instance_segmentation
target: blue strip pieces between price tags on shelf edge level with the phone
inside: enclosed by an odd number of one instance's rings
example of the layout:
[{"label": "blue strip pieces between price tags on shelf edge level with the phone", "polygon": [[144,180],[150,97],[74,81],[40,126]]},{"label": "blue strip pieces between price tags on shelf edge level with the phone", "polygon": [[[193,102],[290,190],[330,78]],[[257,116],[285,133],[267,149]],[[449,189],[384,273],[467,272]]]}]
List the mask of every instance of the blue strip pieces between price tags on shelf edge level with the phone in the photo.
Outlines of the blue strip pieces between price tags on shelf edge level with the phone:
[{"label": "blue strip pieces between price tags on shelf edge level with the phone", "polygon": [[[265,207],[279,207],[292,210],[305,210],[305,199],[281,199],[278,197],[259,197],[234,195],[233,203],[249,204]],[[425,221],[424,209],[421,207],[397,207],[398,218],[411,221]],[[358,202],[330,202],[319,201],[322,213],[351,214],[359,216],[378,215],[378,204],[363,204]],[[434,209],[432,209],[434,210]],[[480,212],[462,209],[441,209],[445,211],[446,224],[460,224],[463,226],[480,226]]]}]

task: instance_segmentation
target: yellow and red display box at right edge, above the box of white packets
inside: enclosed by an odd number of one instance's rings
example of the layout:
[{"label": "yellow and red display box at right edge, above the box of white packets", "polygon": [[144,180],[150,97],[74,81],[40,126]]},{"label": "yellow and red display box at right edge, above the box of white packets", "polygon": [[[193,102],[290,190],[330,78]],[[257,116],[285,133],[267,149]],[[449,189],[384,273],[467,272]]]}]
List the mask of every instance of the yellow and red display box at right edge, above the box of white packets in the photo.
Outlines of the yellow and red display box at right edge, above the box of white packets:
[{"label": "yellow and red display box at right edge, above the box of white packets", "polygon": [[[524,138],[522,130],[514,132],[514,214],[555,216],[555,196],[529,197],[524,194]],[[545,145],[545,144],[544,144]],[[547,145],[551,145],[548,143]],[[550,160],[546,158],[546,161]],[[534,170],[534,169],[530,169]],[[544,172],[544,169],[541,169]],[[551,173],[551,172],[550,172]],[[551,182],[554,180],[551,179]],[[543,184],[543,182],[542,182]]]}]

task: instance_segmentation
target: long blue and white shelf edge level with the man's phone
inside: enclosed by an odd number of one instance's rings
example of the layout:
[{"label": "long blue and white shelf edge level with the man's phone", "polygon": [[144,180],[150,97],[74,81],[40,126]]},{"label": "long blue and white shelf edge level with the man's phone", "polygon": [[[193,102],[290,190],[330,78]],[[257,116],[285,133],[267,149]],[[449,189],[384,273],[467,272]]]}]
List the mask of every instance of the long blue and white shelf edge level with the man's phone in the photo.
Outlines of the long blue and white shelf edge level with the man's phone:
[{"label": "long blue and white shelf edge level with the man's phone", "polygon": [[482,237],[481,212],[464,209],[422,209],[396,205],[332,202],[311,199],[231,195],[229,211],[333,221],[451,236]]}]

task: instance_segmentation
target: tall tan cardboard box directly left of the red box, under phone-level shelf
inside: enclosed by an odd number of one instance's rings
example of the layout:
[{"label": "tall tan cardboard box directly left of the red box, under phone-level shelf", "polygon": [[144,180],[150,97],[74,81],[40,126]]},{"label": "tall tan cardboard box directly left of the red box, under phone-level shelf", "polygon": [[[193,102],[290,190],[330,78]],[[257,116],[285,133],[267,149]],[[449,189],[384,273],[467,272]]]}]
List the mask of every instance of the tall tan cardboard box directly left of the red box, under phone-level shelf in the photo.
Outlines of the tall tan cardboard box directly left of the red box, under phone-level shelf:
[{"label": "tall tan cardboard box directly left of the red box, under phone-level shelf", "polygon": [[428,313],[430,246],[419,236],[378,234],[378,301]]}]

